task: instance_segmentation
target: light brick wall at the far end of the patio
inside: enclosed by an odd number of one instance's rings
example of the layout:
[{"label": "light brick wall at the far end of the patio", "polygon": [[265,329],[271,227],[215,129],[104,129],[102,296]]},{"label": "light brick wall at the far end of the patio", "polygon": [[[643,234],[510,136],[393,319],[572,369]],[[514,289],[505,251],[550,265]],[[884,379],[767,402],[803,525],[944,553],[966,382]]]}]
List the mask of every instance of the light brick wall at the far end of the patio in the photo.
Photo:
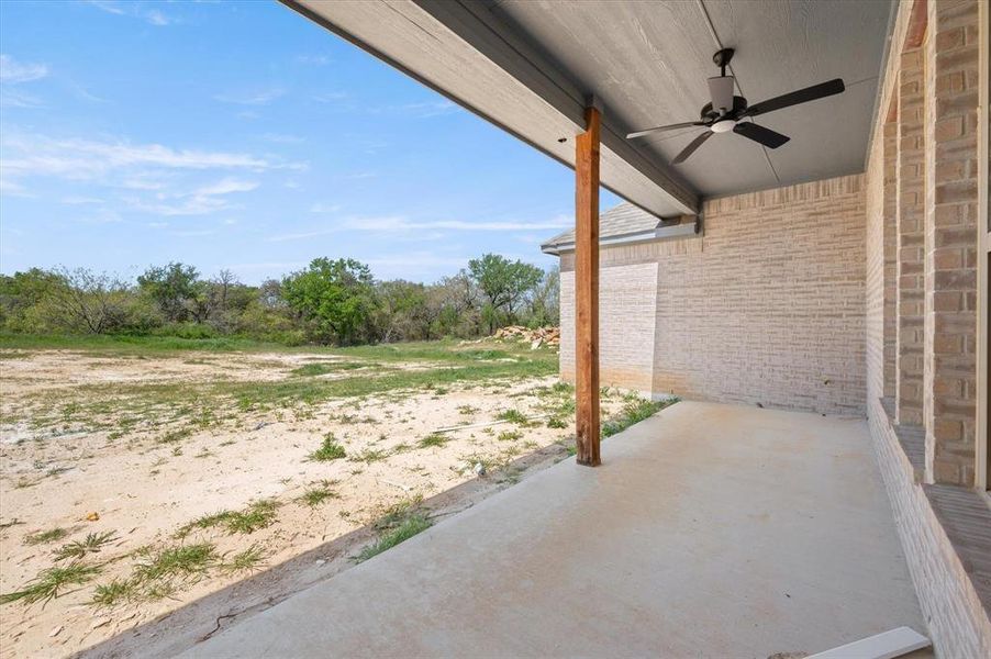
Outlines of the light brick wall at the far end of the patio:
[{"label": "light brick wall at the far end of the patio", "polygon": [[[864,414],[860,177],[716,199],[704,214],[704,237],[601,250],[603,384]],[[575,368],[571,268],[565,255],[566,378]]]}]

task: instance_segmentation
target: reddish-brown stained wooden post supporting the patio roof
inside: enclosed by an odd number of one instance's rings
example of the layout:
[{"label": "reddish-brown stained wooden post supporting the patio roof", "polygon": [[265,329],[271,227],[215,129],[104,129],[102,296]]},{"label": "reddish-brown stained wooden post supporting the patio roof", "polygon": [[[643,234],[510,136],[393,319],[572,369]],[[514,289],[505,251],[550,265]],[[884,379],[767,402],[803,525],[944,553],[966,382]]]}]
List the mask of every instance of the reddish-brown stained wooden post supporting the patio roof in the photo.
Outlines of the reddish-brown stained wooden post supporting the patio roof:
[{"label": "reddish-brown stained wooden post supporting the patio roof", "polygon": [[575,143],[575,442],[579,465],[599,459],[599,110]]}]

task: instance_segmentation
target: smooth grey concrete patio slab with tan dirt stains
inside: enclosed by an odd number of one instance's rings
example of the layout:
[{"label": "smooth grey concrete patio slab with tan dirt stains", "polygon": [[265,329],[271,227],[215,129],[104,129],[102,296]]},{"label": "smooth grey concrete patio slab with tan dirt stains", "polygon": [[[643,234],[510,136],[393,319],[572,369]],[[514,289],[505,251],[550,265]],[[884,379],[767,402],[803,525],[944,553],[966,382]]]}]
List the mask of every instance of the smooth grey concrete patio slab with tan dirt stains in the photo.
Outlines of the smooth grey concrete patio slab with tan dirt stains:
[{"label": "smooth grey concrete patio slab with tan dirt stains", "polygon": [[926,634],[862,420],[682,402],[188,657],[819,652]]}]

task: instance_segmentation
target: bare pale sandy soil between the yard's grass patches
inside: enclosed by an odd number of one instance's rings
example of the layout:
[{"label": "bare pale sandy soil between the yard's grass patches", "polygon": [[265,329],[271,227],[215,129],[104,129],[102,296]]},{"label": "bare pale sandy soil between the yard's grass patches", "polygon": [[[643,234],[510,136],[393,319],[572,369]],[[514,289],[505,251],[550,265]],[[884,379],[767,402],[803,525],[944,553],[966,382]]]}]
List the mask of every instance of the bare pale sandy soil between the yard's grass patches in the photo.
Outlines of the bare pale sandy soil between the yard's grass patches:
[{"label": "bare pale sandy soil between the yard's grass patches", "polygon": [[[79,387],[94,382],[182,383],[215,380],[219,373],[230,380],[276,382],[302,364],[333,358],[292,353],[140,359],[58,350],[3,357],[0,592],[20,590],[41,570],[65,565],[53,557],[65,543],[89,533],[115,534],[109,546],[86,559],[88,565],[101,566],[92,581],[69,587],[44,606],[23,602],[0,605],[0,656],[4,658],[65,656],[104,641],[227,589],[253,571],[274,568],[360,529],[387,506],[431,498],[476,479],[479,463],[488,468],[479,480],[511,483],[519,474],[513,467],[506,468],[508,463],[563,443],[574,433],[570,418],[564,428],[549,428],[543,418],[527,426],[487,425],[506,409],[528,416],[541,414],[546,403],[541,388],[556,379],[527,378],[393,391],[289,409],[225,410],[222,423],[164,444],[163,424],[167,429],[168,421],[149,420],[155,433],[142,432],[138,426],[118,437],[112,424],[102,429],[45,425],[32,417],[32,411],[40,409],[41,399],[49,401],[49,406],[53,396],[68,399],[73,393],[78,400]],[[408,366],[424,368],[422,362]],[[616,404],[604,400],[605,414]],[[419,446],[423,437],[439,428],[461,425],[469,427],[445,433],[449,440],[442,446]],[[345,447],[347,457],[309,459],[329,432]],[[311,488],[326,488],[333,496],[309,505],[300,496]],[[266,528],[249,534],[230,534],[219,527],[196,529],[177,539],[177,530],[197,517],[244,510],[260,499],[278,503],[275,523]],[[457,501],[446,504],[456,507]],[[68,534],[51,543],[29,541],[32,534],[53,527]],[[368,537],[363,536],[363,541]],[[260,548],[264,563],[253,571],[211,570],[199,580],[183,581],[176,592],[158,600],[141,599],[113,607],[92,604],[94,587],[133,573],[142,560],[135,554],[140,548],[203,541],[213,543],[224,556]],[[240,588],[241,599],[256,601],[265,593],[250,590],[270,584],[248,579]],[[201,601],[200,606],[209,601]],[[212,619],[225,613],[199,615]]]}]

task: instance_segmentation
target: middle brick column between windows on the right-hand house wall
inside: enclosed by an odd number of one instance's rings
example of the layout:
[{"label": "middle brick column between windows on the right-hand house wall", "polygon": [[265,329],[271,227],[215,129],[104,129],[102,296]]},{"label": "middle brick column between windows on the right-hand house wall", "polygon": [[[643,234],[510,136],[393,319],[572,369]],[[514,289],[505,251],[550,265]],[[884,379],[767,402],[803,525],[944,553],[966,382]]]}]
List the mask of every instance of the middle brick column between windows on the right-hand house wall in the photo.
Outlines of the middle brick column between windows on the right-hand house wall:
[{"label": "middle brick column between windows on the right-hand house wall", "polygon": [[923,51],[901,56],[898,81],[898,299],[895,421],[923,422],[925,149]]}]

